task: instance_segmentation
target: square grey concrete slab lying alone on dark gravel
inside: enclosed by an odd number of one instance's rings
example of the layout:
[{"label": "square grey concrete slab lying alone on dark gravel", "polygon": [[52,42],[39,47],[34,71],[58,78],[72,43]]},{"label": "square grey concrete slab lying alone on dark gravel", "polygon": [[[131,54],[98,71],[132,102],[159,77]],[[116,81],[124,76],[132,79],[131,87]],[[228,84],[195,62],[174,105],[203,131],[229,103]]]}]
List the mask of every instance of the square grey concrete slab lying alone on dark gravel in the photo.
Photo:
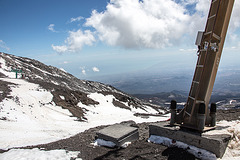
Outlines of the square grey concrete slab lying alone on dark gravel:
[{"label": "square grey concrete slab lying alone on dark gravel", "polygon": [[132,142],[139,138],[138,128],[122,124],[115,124],[97,132],[97,137],[106,141],[111,141],[117,146],[125,142]]}]

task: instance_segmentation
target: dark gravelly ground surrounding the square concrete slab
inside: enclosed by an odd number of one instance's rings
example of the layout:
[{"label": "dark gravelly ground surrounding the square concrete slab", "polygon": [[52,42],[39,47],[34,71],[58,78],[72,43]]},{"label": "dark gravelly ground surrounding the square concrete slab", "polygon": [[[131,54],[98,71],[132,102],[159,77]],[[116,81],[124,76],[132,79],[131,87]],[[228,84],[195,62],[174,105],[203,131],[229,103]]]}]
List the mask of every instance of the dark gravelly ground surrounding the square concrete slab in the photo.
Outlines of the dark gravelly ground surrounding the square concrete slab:
[{"label": "dark gravelly ground surrounding the square concrete slab", "polygon": [[[240,116],[240,109],[219,110],[217,120],[237,120]],[[83,160],[97,159],[126,159],[126,160],[194,160],[194,155],[184,149],[176,147],[165,147],[147,142],[148,123],[135,124],[132,121],[123,122],[127,125],[138,127],[140,138],[127,148],[106,148],[93,145],[96,132],[106,126],[91,128],[71,138],[57,142],[29,146],[27,148],[44,148],[45,150],[65,149],[69,151],[80,151],[78,157]]]}]

